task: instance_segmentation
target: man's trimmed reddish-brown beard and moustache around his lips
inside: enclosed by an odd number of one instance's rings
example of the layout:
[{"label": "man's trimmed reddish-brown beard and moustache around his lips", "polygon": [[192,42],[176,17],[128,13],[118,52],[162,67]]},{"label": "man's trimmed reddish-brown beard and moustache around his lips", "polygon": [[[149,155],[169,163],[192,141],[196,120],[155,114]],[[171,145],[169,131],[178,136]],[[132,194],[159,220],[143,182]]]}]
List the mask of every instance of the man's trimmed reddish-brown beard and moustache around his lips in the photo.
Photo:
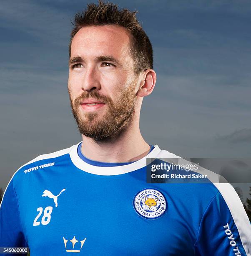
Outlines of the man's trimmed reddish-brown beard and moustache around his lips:
[{"label": "man's trimmed reddish-brown beard and moustache around his lips", "polygon": [[[86,137],[95,141],[106,141],[119,136],[133,120],[133,113],[136,106],[137,81],[134,80],[117,97],[115,102],[110,97],[93,90],[83,92],[80,96],[72,100],[72,95],[68,86],[70,105],[73,117],[78,125],[78,130]],[[100,100],[105,103],[105,113],[85,112],[80,108],[80,103],[88,98]]]}]

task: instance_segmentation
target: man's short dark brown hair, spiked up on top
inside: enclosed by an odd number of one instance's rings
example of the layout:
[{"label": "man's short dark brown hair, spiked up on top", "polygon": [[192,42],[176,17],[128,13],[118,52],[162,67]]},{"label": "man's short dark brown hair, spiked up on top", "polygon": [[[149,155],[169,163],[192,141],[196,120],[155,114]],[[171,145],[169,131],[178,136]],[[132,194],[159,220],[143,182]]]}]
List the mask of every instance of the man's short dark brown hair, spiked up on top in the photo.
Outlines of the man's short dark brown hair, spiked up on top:
[{"label": "man's short dark brown hair, spiked up on top", "polygon": [[145,69],[153,69],[153,48],[141,24],[136,18],[137,11],[119,10],[118,5],[98,1],[98,5],[88,4],[83,12],[76,13],[73,30],[70,33],[69,56],[71,43],[75,34],[85,26],[118,25],[130,34],[130,52],[134,60],[134,72],[140,74]]}]

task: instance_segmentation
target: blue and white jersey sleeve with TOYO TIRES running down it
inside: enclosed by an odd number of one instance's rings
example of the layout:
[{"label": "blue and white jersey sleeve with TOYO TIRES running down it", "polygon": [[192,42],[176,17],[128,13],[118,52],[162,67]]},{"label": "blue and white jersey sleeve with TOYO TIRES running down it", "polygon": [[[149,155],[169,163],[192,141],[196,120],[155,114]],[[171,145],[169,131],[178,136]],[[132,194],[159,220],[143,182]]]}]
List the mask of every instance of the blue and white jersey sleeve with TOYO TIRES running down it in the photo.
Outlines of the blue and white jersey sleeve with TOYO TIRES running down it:
[{"label": "blue and white jersey sleeve with TOYO TIRES running down it", "polygon": [[206,208],[194,245],[195,255],[250,256],[251,225],[248,216],[233,187],[230,188],[230,184],[220,185],[228,191],[223,195],[217,192]]}]

